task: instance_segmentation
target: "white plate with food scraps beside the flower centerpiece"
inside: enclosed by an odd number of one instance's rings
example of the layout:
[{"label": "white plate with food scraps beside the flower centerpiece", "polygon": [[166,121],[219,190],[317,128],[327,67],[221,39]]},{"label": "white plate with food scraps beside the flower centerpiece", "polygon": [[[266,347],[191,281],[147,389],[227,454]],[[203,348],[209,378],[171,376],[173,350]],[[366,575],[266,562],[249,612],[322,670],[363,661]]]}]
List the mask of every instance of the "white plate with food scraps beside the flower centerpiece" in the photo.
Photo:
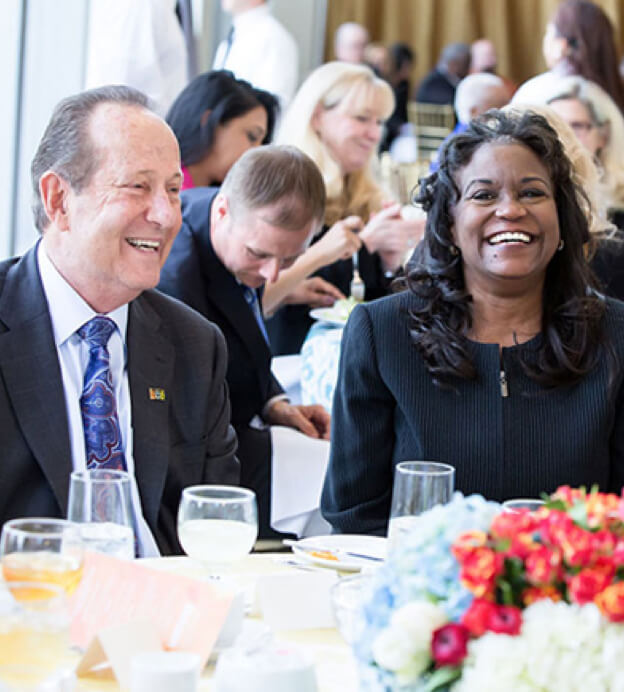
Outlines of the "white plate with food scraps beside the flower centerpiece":
[{"label": "white plate with food scraps beside the flower centerpiece", "polygon": [[[337,560],[314,555],[311,550],[336,551]],[[373,558],[384,560],[387,551],[387,539],[381,536],[360,536],[357,534],[333,534],[330,536],[312,536],[297,541],[292,550],[302,560],[312,562],[324,567],[344,570],[345,572],[357,572],[364,567],[378,567],[379,560],[367,560],[366,558],[347,555],[346,553],[359,553],[370,555]]]}]

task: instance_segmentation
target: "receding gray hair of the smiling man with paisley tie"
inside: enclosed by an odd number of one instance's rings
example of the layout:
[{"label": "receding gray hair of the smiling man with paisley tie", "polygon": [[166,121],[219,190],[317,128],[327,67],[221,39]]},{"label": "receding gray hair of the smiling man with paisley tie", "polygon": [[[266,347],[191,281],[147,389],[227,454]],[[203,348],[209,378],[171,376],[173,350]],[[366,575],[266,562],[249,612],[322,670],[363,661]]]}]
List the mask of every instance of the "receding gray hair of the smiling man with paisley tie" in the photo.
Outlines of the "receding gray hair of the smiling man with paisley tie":
[{"label": "receding gray hair of the smiling man with paisley tie", "polygon": [[40,233],[49,220],[39,194],[39,180],[46,171],[52,170],[75,192],[89,184],[100,164],[101,153],[89,136],[89,121],[96,107],[103,103],[150,109],[147,96],[127,86],[89,89],[63,99],[56,106],[30,165],[32,210]]}]

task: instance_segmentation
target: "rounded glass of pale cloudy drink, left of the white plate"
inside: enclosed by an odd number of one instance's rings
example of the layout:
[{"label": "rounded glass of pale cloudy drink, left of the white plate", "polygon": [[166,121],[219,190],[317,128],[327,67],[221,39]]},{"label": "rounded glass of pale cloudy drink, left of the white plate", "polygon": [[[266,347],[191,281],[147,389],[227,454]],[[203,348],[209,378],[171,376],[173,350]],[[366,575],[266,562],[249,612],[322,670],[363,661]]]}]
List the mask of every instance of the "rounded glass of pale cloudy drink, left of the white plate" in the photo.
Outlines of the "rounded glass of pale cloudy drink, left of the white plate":
[{"label": "rounded glass of pale cloudy drink, left of the white plate", "polygon": [[223,569],[242,560],[258,536],[256,495],[247,488],[194,485],[182,491],[178,538],[194,560]]}]

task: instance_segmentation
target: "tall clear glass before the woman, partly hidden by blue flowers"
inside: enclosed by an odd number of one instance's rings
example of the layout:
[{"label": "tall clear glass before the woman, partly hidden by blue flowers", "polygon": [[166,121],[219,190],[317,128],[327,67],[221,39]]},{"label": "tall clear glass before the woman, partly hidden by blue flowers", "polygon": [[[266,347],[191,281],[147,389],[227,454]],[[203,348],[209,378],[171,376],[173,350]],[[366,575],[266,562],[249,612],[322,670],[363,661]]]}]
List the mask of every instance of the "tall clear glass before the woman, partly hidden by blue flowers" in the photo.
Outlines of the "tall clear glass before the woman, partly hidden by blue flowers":
[{"label": "tall clear glass before the woman, partly hidden by blue flowers", "polygon": [[455,469],[434,461],[403,461],[396,465],[390,523],[389,552],[418,523],[423,512],[445,504],[453,496]]}]

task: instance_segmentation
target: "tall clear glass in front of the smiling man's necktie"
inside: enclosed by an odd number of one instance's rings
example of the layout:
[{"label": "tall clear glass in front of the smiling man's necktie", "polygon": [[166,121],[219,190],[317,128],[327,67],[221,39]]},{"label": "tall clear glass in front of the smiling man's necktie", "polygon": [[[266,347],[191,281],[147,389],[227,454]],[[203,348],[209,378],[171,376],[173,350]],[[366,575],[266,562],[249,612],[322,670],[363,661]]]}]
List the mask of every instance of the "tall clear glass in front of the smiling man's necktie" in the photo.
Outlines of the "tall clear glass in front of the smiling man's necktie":
[{"label": "tall clear glass in front of the smiling man's necktie", "polygon": [[74,522],[87,550],[127,560],[134,558],[130,476],[126,471],[73,471],[67,518]]}]

